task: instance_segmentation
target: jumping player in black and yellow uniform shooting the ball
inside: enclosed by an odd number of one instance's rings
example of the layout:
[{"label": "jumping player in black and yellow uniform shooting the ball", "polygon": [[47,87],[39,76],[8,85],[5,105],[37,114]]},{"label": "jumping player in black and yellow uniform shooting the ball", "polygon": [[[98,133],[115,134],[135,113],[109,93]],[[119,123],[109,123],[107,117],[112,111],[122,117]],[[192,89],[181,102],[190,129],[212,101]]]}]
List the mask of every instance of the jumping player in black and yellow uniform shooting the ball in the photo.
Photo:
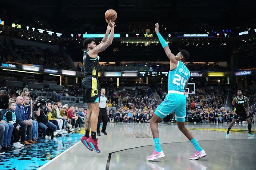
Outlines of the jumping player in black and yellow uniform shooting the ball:
[{"label": "jumping player in black and yellow uniform shooting the ball", "polygon": [[[84,103],[87,103],[87,118],[85,121],[85,135],[81,137],[81,142],[89,150],[95,150],[100,153],[98,148],[98,139],[96,139],[97,123],[99,116],[99,96],[100,85],[98,80],[98,67],[99,67],[99,52],[105,50],[114,39],[115,22],[109,22],[106,34],[101,43],[97,46],[93,38],[84,40],[84,79],[82,81],[82,92]],[[109,31],[111,30],[110,34]],[[91,137],[89,136],[91,126]]]}]

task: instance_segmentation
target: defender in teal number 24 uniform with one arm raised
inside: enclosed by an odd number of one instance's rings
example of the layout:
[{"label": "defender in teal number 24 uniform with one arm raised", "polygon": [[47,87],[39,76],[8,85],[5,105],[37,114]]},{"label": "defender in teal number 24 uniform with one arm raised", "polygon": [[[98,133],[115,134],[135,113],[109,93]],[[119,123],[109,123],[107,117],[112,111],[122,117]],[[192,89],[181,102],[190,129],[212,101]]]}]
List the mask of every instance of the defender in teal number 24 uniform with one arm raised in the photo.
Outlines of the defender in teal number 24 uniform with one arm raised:
[{"label": "defender in teal number 24 uniform with one arm raised", "polygon": [[157,107],[155,114],[153,114],[153,117],[150,120],[150,128],[154,139],[155,151],[152,155],[147,157],[147,160],[152,161],[165,157],[159,142],[158,123],[166,115],[172,113],[172,111],[175,111],[179,130],[187,137],[188,140],[190,140],[196,149],[195,154],[191,156],[190,159],[196,160],[203,158],[206,156],[206,152],[200,147],[193,134],[185,126],[187,100],[184,94],[184,89],[187,87],[190,72],[184,65],[184,62],[189,59],[189,53],[186,50],[181,50],[181,52],[176,56],[173,55],[169,49],[168,43],[159,33],[158,23],[156,23],[155,26],[159,41],[170,60],[170,71],[168,75],[168,94],[164,101]]}]

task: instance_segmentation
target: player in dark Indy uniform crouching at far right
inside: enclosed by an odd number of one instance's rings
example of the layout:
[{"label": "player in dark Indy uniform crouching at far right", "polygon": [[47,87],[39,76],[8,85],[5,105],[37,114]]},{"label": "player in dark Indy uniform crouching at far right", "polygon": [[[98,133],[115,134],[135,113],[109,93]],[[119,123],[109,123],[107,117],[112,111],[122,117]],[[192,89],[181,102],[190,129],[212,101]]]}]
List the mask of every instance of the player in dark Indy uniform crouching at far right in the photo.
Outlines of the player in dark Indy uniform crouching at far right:
[{"label": "player in dark Indy uniform crouching at far right", "polygon": [[[248,123],[248,136],[254,137],[254,135],[251,133],[252,129],[252,123],[249,118],[249,103],[248,98],[242,95],[242,90],[237,90],[237,97],[234,97],[232,101],[232,112],[233,112],[233,119],[231,123],[228,125],[228,131],[226,133],[226,136],[229,137],[229,131],[232,128],[235,121],[237,121],[237,118],[240,116],[240,118],[244,119]],[[247,111],[245,111],[245,104],[247,105]]]}]

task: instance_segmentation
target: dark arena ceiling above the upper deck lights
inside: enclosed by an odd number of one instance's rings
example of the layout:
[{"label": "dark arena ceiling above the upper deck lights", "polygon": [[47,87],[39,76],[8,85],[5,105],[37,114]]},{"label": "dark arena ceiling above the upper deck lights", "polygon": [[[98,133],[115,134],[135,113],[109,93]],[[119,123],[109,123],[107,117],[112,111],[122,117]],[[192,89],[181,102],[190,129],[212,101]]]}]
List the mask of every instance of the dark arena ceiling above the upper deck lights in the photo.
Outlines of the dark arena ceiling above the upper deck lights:
[{"label": "dark arena ceiling above the upper deck lights", "polygon": [[[118,22],[165,22],[186,24],[193,22],[206,27],[255,26],[253,0],[2,0],[7,8],[22,8],[33,19],[69,24],[70,20],[84,20],[83,24],[103,24],[107,9],[115,9]],[[168,18],[168,21],[166,21]],[[50,22],[50,21],[49,21]],[[51,25],[51,24],[50,24]],[[60,24],[59,26],[63,26]]]}]

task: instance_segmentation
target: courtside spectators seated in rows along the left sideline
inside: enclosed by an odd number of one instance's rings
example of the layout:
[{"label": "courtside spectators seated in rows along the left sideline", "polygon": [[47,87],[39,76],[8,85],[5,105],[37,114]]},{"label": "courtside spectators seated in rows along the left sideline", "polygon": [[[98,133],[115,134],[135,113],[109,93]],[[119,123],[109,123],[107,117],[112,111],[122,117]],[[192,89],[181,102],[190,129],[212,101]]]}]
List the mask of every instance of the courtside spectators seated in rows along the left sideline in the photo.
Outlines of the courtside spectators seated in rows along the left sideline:
[{"label": "courtside spectators seated in rows along the left sideline", "polygon": [[80,131],[84,126],[86,110],[54,103],[38,97],[32,101],[30,91],[24,88],[17,97],[0,91],[0,155],[4,151],[51,140],[68,132]]}]

